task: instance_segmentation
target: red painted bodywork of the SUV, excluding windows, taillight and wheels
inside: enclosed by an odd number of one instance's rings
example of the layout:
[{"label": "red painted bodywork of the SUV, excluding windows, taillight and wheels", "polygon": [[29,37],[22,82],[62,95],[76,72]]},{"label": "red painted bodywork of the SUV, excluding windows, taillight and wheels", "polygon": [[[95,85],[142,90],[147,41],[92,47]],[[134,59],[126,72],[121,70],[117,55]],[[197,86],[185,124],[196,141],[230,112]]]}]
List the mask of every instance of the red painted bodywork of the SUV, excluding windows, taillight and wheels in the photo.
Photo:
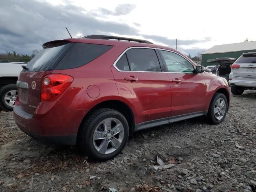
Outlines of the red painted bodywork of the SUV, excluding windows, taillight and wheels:
[{"label": "red painted bodywork of the SUV, excluding windows, taillight and wheels", "polygon": [[[31,136],[33,134],[39,136],[76,135],[80,123],[90,109],[108,100],[125,103],[132,110],[134,124],[140,124],[151,120],[207,111],[212,96],[218,89],[225,88],[229,92],[228,85],[223,78],[206,72],[202,74],[120,72],[113,66],[118,56],[129,47],[153,47],[177,52],[172,48],[115,40],[81,38],[66,39],[66,41],[105,44],[113,47],[78,68],[20,73],[19,80],[27,82],[29,89],[18,89],[19,100],[16,102],[17,106],[14,107],[14,119],[18,126]],[[74,80],[55,101],[40,102],[42,78],[49,73],[67,74]],[[125,80],[128,77],[138,78],[138,81]],[[181,82],[173,82],[172,80],[175,79]],[[34,90],[31,88],[33,81],[36,82]],[[22,114],[27,114],[31,118],[25,118]]]}]

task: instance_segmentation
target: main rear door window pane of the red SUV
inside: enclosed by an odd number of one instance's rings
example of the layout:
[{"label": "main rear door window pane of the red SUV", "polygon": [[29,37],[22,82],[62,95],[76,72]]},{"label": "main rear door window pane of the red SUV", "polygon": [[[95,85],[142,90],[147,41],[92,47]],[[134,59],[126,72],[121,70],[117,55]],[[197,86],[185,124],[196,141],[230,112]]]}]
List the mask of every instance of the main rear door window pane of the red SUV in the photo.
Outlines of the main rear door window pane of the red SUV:
[{"label": "main rear door window pane of the red SUV", "polygon": [[161,71],[154,49],[133,48],[126,52],[131,71]]}]

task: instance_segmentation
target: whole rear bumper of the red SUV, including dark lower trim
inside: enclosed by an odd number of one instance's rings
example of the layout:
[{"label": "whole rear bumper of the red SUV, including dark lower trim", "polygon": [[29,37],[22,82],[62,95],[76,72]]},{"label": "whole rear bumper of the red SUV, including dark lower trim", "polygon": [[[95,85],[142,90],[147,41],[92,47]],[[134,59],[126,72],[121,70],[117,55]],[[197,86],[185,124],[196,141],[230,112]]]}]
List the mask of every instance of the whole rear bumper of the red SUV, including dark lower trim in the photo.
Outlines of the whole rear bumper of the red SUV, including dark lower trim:
[{"label": "whole rear bumper of the red SUV, including dark lower trim", "polygon": [[75,145],[78,128],[89,110],[67,110],[58,102],[40,103],[34,114],[14,107],[13,114],[17,126],[36,140],[47,144]]}]

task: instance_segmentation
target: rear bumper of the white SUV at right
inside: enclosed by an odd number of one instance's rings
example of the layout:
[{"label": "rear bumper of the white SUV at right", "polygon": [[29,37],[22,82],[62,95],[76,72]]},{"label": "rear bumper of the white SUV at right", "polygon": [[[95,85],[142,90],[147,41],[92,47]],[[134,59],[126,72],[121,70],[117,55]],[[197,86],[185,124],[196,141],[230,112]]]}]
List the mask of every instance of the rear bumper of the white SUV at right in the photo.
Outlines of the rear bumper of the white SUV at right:
[{"label": "rear bumper of the white SUV at right", "polygon": [[232,74],[229,75],[229,84],[231,86],[242,86],[248,88],[256,88],[256,78],[242,78],[242,77],[234,77]]}]

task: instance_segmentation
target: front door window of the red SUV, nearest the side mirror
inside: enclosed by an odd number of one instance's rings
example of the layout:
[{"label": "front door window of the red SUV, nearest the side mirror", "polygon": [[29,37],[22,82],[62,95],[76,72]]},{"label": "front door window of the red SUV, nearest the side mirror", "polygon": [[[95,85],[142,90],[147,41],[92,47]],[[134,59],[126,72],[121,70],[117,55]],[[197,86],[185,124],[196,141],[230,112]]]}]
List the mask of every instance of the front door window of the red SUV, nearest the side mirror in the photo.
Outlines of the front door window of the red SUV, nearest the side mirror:
[{"label": "front door window of the red SUV, nearest the side mirror", "polygon": [[160,51],[164,57],[169,72],[193,72],[193,65],[182,56],[169,52]]}]

